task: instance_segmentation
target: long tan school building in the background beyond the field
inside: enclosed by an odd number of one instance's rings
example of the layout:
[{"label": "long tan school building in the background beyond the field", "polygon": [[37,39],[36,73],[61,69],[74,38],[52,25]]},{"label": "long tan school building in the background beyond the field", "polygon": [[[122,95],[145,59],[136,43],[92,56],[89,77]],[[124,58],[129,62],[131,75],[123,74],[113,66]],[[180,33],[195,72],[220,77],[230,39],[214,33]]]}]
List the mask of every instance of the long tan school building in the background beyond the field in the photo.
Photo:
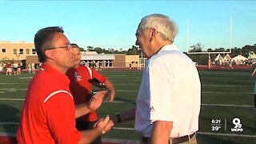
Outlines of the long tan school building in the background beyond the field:
[{"label": "long tan school building in the background beyond the field", "polygon": [[[29,63],[38,64],[38,55],[34,43],[24,41],[9,42],[0,41],[0,61],[13,60],[22,62],[27,68]],[[138,55],[126,54],[98,54],[96,51],[82,51],[81,61],[87,66],[111,67],[141,67],[145,62],[144,58]]]}]

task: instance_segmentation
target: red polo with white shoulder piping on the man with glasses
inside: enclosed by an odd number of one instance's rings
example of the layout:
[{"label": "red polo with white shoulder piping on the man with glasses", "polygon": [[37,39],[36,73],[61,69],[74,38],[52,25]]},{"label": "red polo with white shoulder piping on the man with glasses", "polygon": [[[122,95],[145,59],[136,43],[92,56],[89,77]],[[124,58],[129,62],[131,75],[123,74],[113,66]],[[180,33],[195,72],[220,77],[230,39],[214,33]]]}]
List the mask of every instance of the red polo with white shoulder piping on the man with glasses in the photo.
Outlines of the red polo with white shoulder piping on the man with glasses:
[{"label": "red polo with white shoulder piping on the man with glasses", "polygon": [[65,74],[42,65],[27,90],[17,132],[20,144],[78,143],[82,134],[75,128],[69,84]]}]

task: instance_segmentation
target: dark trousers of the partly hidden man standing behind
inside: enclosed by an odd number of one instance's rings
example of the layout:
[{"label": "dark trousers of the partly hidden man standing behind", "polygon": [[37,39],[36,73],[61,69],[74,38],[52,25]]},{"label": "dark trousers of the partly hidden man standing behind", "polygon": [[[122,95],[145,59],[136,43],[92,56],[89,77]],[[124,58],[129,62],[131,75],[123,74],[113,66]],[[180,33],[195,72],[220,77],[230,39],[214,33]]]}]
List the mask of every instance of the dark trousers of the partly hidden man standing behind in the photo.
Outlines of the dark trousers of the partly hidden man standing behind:
[{"label": "dark trousers of the partly hidden man standing behind", "polygon": [[[76,121],[76,127],[78,130],[90,130],[94,128],[95,122]],[[94,142],[91,142],[91,144],[102,144],[102,137],[99,136],[94,140]]]}]

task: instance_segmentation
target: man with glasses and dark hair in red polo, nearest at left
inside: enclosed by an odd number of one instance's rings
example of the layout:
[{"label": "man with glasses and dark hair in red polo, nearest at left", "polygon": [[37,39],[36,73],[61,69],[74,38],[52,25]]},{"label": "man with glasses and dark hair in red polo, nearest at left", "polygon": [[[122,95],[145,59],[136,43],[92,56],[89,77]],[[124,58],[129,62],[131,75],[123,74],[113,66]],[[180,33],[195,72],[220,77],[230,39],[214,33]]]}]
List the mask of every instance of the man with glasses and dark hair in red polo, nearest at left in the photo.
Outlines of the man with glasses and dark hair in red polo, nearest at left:
[{"label": "man with glasses and dark hair in red polo, nearest at left", "polygon": [[20,144],[90,143],[109,131],[113,122],[102,118],[93,130],[79,131],[75,118],[96,110],[106,91],[88,103],[74,106],[66,71],[74,66],[74,50],[61,27],[46,27],[35,34],[34,44],[42,70],[31,80],[18,126]]}]

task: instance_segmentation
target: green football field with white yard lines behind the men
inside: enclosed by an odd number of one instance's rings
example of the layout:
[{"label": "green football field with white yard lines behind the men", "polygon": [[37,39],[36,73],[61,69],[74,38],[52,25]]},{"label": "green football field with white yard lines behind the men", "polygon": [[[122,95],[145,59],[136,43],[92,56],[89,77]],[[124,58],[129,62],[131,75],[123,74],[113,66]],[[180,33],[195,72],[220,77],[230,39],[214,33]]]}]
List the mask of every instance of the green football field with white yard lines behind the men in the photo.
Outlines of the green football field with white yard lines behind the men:
[{"label": "green football field with white yard lines behind the men", "polygon": [[[99,117],[132,108],[142,70],[99,72],[110,78],[116,90],[114,102],[104,102],[98,109]],[[250,71],[199,70],[199,74],[202,82],[202,106],[198,143],[255,143],[254,78],[250,76]],[[0,74],[0,134],[16,133],[26,89],[33,76],[34,74]],[[116,124],[103,138],[139,140],[140,135],[134,131],[134,122],[123,122]]]}]

